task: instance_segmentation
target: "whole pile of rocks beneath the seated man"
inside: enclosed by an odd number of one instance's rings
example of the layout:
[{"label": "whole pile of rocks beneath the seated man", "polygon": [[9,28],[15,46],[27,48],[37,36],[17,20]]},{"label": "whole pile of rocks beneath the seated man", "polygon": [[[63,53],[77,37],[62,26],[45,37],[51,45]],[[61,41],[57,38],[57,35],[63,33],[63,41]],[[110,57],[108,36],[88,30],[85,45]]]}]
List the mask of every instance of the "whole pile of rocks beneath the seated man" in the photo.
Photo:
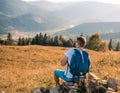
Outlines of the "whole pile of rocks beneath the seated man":
[{"label": "whole pile of rocks beneath the seated man", "polygon": [[[87,81],[88,80],[88,81]],[[64,82],[55,88],[35,89],[33,93],[116,93],[118,90],[118,80],[109,78],[108,80],[99,80],[99,78],[89,73],[88,79],[78,82]]]}]

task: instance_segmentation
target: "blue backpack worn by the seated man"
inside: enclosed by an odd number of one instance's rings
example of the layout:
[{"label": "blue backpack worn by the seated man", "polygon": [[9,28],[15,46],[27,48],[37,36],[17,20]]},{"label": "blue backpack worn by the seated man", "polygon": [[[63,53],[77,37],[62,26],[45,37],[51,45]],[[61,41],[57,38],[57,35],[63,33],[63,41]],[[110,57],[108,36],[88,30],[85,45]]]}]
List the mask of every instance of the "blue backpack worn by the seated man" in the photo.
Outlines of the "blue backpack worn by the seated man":
[{"label": "blue backpack worn by the seated man", "polygon": [[70,73],[73,76],[80,76],[80,73],[86,75],[89,72],[90,60],[89,55],[86,51],[79,51],[78,49],[74,49],[75,54],[71,58],[71,62],[69,65]]}]

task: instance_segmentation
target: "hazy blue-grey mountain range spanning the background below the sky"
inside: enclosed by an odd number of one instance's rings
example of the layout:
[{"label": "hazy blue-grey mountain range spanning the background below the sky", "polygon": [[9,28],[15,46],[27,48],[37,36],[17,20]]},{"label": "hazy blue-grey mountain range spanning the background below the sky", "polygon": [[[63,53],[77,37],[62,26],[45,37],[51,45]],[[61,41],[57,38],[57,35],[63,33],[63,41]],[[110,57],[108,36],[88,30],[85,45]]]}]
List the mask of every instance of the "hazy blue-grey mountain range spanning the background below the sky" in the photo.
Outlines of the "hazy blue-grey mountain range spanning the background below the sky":
[{"label": "hazy blue-grey mountain range spanning the background below the sky", "polygon": [[[26,3],[21,0],[0,0],[0,35],[16,31],[49,32],[55,35],[63,33],[63,31],[67,33],[66,31],[73,29],[73,27],[79,30],[79,24],[80,29],[85,29],[87,34],[95,31],[102,33],[104,31],[101,29],[105,28],[104,25],[95,29],[87,23],[108,24],[110,22],[111,24],[113,22],[118,26],[116,23],[120,22],[119,16],[120,5],[114,4],[98,2],[53,3],[46,0]],[[108,24],[109,27],[112,27],[110,24]],[[110,29],[114,29],[114,27]]]}]

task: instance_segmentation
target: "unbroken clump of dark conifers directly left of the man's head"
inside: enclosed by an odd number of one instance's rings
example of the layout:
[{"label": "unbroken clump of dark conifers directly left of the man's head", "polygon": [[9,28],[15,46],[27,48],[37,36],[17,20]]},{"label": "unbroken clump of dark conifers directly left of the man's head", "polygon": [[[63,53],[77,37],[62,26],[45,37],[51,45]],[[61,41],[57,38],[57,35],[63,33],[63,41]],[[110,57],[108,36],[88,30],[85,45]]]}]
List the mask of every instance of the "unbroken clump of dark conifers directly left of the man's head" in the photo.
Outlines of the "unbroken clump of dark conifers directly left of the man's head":
[{"label": "unbroken clump of dark conifers directly left of the man's head", "polygon": [[44,45],[44,46],[62,46],[62,47],[73,47],[74,41],[69,38],[64,39],[62,35],[51,37],[50,35],[37,34],[33,38],[21,38],[18,39],[18,45]]}]

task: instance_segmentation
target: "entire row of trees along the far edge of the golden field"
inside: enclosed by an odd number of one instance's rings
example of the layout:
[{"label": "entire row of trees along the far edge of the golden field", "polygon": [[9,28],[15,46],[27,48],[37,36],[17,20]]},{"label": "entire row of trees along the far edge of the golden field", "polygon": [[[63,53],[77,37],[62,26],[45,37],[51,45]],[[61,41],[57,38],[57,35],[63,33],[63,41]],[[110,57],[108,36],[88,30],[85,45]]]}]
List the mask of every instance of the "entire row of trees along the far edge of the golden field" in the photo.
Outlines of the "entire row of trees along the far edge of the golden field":
[{"label": "entire row of trees along the far edge of the golden field", "polygon": [[[0,39],[0,44],[19,45],[19,46],[44,45],[44,46],[74,47],[75,41],[72,38],[65,39],[62,35],[51,37],[46,33],[45,34],[39,33],[36,34],[33,38],[19,37],[18,41],[15,43],[15,41],[12,39],[12,34],[8,33],[6,40]],[[87,38],[86,48],[95,51],[106,51],[106,50],[120,51],[120,42],[118,41],[117,46],[114,48],[112,39],[110,39],[109,43],[107,44],[106,42],[102,41],[99,33],[95,33]]]}]

